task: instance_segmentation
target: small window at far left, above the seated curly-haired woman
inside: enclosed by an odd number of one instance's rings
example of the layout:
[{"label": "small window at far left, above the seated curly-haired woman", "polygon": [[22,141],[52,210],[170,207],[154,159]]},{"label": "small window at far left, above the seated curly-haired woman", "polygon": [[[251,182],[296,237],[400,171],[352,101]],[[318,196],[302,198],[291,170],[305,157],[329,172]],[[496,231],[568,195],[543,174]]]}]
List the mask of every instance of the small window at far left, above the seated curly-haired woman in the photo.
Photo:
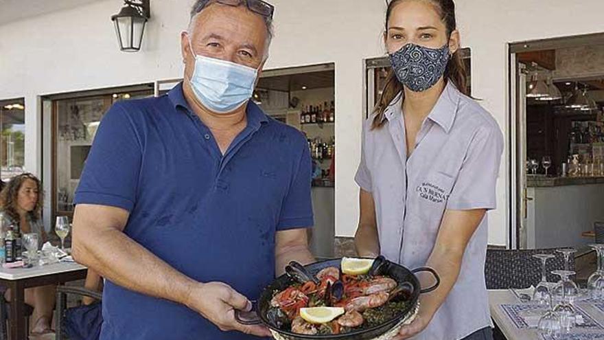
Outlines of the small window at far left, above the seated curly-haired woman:
[{"label": "small window at far left, above the seated curly-haired woman", "polygon": [[0,177],[8,181],[25,170],[25,101],[0,101]]}]

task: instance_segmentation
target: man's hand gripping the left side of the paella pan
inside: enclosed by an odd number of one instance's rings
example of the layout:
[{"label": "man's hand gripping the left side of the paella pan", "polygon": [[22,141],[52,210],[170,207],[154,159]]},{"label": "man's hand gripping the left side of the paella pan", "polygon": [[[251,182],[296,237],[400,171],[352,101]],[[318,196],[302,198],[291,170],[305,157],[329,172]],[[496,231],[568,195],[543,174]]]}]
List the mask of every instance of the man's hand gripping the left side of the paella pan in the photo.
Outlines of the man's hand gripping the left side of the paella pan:
[{"label": "man's hand gripping the left side of the paella pan", "polygon": [[257,337],[271,336],[268,328],[264,326],[242,325],[235,320],[235,310],[248,312],[252,309],[252,304],[246,297],[222,282],[195,284],[191,287],[185,304],[224,332],[238,330]]}]

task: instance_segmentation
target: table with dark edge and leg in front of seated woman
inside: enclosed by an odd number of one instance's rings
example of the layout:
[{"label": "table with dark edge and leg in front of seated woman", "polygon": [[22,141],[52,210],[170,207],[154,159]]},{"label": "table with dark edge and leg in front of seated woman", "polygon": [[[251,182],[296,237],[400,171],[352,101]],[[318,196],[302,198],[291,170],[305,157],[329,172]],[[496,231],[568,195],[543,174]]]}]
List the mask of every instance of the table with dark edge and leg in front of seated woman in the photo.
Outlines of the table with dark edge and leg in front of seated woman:
[{"label": "table with dark edge and leg in front of seated woman", "polygon": [[[10,339],[27,339],[23,308],[25,288],[65,284],[86,277],[86,267],[75,262],[59,262],[41,267],[4,269],[0,267],[0,285],[10,288]],[[4,322],[4,321],[1,321]]]}]

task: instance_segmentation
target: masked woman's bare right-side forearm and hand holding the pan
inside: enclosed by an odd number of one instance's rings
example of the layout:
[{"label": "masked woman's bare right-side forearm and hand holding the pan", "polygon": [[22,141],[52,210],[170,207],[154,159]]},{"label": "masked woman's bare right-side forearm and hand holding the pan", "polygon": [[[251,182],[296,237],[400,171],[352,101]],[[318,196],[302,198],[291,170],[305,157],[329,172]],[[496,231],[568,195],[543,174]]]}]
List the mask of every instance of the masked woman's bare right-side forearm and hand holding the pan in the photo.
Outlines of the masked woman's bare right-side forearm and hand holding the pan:
[{"label": "masked woman's bare right-side forearm and hand holding the pan", "polygon": [[[427,267],[434,269],[441,278],[441,284],[432,293],[423,294],[419,298],[419,314],[412,324],[402,328],[393,340],[408,339],[421,332],[428,324],[434,313],[445,302],[447,295],[457,281],[461,269],[461,261],[465,247],[474,231],[485,218],[486,209],[446,210],[437,236],[437,242],[432,249]],[[432,275],[419,274],[421,286],[432,286]],[[471,298],[471,297],[469,297]]]}]

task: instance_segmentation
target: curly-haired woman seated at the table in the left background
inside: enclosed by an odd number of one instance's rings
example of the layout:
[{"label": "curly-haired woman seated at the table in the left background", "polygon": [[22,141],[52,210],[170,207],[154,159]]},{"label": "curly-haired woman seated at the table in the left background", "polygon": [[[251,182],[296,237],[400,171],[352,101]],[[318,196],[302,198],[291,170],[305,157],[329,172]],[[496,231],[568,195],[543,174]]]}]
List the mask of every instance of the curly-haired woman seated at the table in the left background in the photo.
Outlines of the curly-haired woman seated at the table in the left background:
[{"label": "curly-haired woman seated at the table in the left background", "polygon": [[[42,183],[33,174],[19,174],[5,184],[0,192],[0,210],[19,234],[36,233],[40,245],[47,237],[41,219],[43,207]],[[25,303],[34,307],[32,334],[52,332],[52,311],[55,305],[56,286],[25,289]],[[10,300],[7,291],[6,299]]]}]

